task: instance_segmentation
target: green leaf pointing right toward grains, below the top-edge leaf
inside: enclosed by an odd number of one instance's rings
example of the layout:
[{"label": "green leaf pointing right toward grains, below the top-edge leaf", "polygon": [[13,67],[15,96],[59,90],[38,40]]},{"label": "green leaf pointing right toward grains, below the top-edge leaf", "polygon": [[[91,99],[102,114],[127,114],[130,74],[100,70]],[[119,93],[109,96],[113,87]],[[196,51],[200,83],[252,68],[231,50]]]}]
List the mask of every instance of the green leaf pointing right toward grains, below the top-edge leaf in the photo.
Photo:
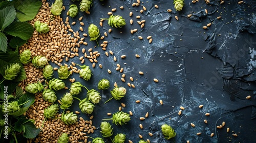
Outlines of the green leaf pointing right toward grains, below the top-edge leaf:
[{"label": "green leaf pointing right toward grains, below the top-edge leaf", "polygon": [[22,38],[23,40],[28,40],[32,36],[34,29],[28,22],[15,21],[12,22],[4,32]]}]

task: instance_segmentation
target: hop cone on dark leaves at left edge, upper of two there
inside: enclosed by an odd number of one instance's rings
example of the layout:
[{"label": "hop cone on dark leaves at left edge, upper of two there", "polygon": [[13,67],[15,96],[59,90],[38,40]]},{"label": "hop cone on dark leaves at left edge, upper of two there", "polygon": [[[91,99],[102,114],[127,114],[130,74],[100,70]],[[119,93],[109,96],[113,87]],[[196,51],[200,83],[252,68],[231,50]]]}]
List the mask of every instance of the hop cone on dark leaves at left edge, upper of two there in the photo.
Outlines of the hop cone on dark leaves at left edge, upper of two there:
[{"label": "hop cone on dark leaves at left edge, upper of two there", "polygon": [[14,80],[22,67],[18,63],[12,63],[5,68],[4,78],[6,80]]}]

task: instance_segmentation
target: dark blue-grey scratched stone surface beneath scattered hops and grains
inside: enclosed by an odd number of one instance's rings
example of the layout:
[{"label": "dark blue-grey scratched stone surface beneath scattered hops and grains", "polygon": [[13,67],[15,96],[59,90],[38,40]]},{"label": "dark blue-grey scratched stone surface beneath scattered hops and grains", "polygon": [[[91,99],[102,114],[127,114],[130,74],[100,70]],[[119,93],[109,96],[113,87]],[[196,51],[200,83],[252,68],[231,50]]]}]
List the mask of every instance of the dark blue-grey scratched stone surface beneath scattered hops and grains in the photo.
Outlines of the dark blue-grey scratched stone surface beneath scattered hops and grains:
[{"label": "dark blue-grey scratched stone surface beneath scattered hops and grains", "polygon": [[[50,1],[52,4],[53,1]],[[133,112],[131,121],[123,126],[112,125],[114,135],[117,133],[126,134],[133,142],[140,140],[138,134],[143,139],[150,139],[151,142],[254,142],[256,135],[256,1],[244,1],[238,5],[238,1],[225,1],[220,5],[220,1],[210,1],[206,4],[199,1],[196,4],[185,1],[182,11],[176,11],[173,1],[155,0],[143,1],[138,7],[132,7],[135,1],[93,1],[93,6],[89,10],[91,14],[79,12],[74,18],[70,18],[70,23],[76,21],[76,25],[71,26],[74,31],[88,34],[88,26],[94,23],[100,29],[101,36],[112,27],[108,21],[103,21],[100,27],[100,18],[108,18],[108,12],[116,8],[114,15],[121,15],[125,18],[126,25],[121,29],[112,28],[112,32],[103,40],[109,41],[106,51],[113,51],[114,55],[105,56],[105,51],[96,46],[95,41],[89,41],[86,37],[84,41],[88,45],[79,47],[79,56],[82,56],[81,49],[92,48],[99,51],[96,67],[92,68],[89,60],[84,64],[92,69],[93,76],[90,81],[84,81],[78,74],[73,74],[71,78],[81,82],[89,89],[97,89],[100,79],[108,79],[111,87],[108,90],[100,91],[102,100],[95,105],[93,124],[97,130],[92,137],[102,137],[99,128],[103,118],[110,118],[108,112],[115,113],[124,103],[124,112]],[[143,3],[142,3],[143,2]],[[71,4],[79,7],[79,2],[63,1],[66,10],[61,17],[65,21],[67,10]],[[146,11],[140,13],[142,5]],[[154,7],[158,5],[158,9]],[[123,6],[121,10],[119,7]],[[172,9],[172,12],[167,12]],[[206,14],[207,9],[208,14]],[[133,12],[130,17],[129,13]],[[188,14],[192,14],[187,18]],[[139,15],[140,19],[136,16]],[[84,31],[79,31],[78,18],[84,22]],[[179,20],[176,20],[178,16]],[[218,16],[222,18],[217,19]],[[130,25],[133,19],[133,25]],[[140,28],[137,20],[146,20],[144,28]],[[203,26],[211,23],[206,30]],[[138,29],[134,34],[131,29]],[[71,33],[72,34],[72,33]],[[152,43],[148,43],[147,36],[151,35]],[[138,39],[142,36],[143,39]],[[81,36],[83,37],[83,36]],[[98,40],[102,43],[103,40]],[[96,47],[95,47],[96,46]],[[135,54],[140,55],[136,58]],[[126,58],[121,59],[121,55]],[[113,57],[117,57],[117,61]],[[70,59],[69,62],[80,63],[79,58]],[[121,81],[121,75],[115,68],[119,63],[124,68],[125,82]],[[102,64],[102,69],[98,64]],[[53,64],[54,67],[57,65]],[[112,74],[108,73],[108,69]],[[143,71],[144,75],[138,72]],[[133,77],[134,81],[130,81]],[[159,80],[155,83],[153,79]],[[65,81],[70,87],[70,82]],[[103,104],[111,97],[110,90],[114,88],[114,82],[118,86],[127,89],[126,96],[120,101],[111,100]],[[127,86],[127,82],[136,87]],[[97,89],[98,90],[98,89]],[[67,90],[68,91],[68,90]],[[60,99],[67,91],[60,91]],[[250,100],[246,100],[251,96]],[[86,98],[86,90],[80,93],[78,98]],[[135,103],[140,100],[141,103]],[[163,101],[160,105],[159,101]],[[204,105],[199,108],[199,105]],[[180,106],[185,108],[181,115],[178,115]],[[78,101],[75,100],[70,110],[78,110]],[[140,121],[139,118],[149,116]],[[210,113],[205,116],[205,113]],[[79,114],[85,119],[90,115]],[[208,121],[208,124],[204,123]],[[217,129],[222,122],[226,125],[222,129]],[[190,123],[196,126],[193,128]],[[112,124],[112,123],[111,123]],[[140,129],[139,124],[143,125]],[[161,133],[161,125],[172,126],[177,135],[174,139],[166,140]],[[226,132],[226,128],[230,132]],[[149,136],[148,132],[153,133]],[[201,132],[201,135],[196,135]],[[213,137],[210,134],[214,133]],[[232,136],[237,133],[238,136]],[[112,137],[114,137],[114,135]],[[106,142],[111,142],[109,138],[104,138]]]}]

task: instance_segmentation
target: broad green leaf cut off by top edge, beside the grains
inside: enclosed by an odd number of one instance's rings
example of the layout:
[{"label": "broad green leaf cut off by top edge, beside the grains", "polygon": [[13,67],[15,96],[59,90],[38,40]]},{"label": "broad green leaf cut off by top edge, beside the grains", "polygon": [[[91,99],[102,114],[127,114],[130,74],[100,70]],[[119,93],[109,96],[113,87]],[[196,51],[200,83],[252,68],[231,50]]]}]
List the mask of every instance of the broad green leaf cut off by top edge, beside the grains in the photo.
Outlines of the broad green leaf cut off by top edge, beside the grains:
[{"label": "broad green leaf cut off by top edge, beside the grains", "polygon": [[41,1],[35,0],[15,0],[14,7],[17,10],[17,18],[19,21],[28,21],[34,19],[41,7]]}]

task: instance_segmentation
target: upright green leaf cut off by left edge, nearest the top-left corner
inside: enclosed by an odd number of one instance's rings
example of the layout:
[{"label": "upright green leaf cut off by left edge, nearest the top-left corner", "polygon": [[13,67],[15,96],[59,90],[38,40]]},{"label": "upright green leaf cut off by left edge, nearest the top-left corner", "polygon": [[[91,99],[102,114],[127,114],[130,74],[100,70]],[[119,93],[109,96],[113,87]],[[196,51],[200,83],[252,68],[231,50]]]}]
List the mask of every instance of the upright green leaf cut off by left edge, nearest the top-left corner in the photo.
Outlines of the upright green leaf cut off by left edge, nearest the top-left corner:
[{"label": "upright green leaf cut off by left edge, nearest the top-left corner", "polygon": [[16,12],[13,6],[0,10],[0,29],[4,30],[15,19]]}]

